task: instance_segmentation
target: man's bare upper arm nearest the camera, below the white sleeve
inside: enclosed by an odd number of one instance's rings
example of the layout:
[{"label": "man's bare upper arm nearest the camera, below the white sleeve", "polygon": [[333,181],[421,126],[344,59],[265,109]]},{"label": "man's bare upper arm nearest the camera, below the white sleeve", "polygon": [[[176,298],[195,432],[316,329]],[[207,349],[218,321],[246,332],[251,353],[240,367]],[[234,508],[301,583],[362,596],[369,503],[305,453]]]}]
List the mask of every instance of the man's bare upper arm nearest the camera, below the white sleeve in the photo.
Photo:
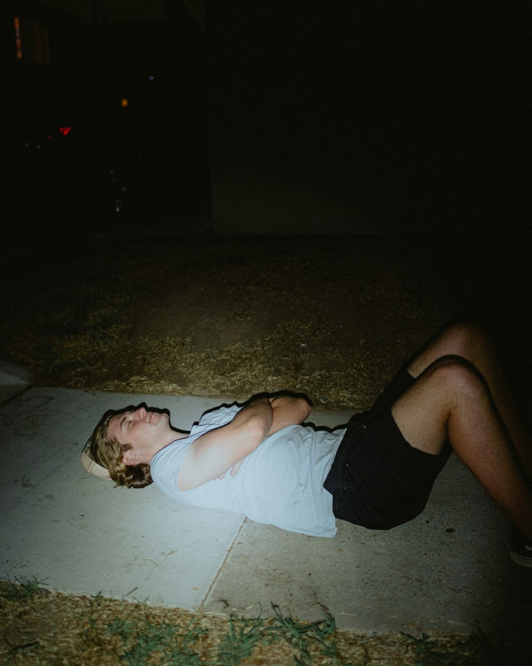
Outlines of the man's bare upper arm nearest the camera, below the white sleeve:
[{"label": "man's bare upper arm nearest the camera, below the white sleeve", "polygon": [[259,398],[241,409],[231,423],[201,435],[185,454],[179,488],[198,488],[227,472],[265,440],[272,424],[270,400]]}]

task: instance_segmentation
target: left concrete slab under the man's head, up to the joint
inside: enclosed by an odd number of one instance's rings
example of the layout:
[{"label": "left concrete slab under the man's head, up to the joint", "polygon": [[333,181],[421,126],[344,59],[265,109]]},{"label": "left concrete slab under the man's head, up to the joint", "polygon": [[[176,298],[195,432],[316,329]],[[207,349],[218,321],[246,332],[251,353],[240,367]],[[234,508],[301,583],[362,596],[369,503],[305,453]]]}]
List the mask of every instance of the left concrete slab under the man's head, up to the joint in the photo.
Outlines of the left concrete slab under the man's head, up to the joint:
[{"label": "left concrete slab under the man's head, up to the joint", "polygon": [[[153,398],[153,400],[152,400]],[[154,486],[114,488],[86,474],[80,452],[108,408],[180,410],[188,428],[219,400],[31,388],[0,410],[0,571],[68,593],[102,592],[197,609],[243,516],[168,500]]]}]

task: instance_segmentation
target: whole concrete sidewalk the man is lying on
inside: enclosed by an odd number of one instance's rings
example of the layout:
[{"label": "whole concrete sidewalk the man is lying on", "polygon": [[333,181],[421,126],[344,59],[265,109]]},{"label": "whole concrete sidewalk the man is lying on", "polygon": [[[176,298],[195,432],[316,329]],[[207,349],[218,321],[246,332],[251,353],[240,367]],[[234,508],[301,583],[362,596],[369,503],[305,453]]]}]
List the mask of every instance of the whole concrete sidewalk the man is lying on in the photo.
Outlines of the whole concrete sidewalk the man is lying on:
[{"label": "whole concrete sidewalk the man is lying on", "polygon": [[[509,520],[456,456],[411,523],[380,532],[338,521],[334,539],[308,537],[179,505],[154,486],[114,488],[80,464],[108,408],[146,402],[188,429],[231,400],[31,387],[8,366],[0,378],[1,576],[192,611],[258,615],[273,602],[303,620],[328,611],[346,629],[469,633],[478,623],[530,640],[532,570],[511,563]],[[349,416],[318,407],[311,420]]]}]

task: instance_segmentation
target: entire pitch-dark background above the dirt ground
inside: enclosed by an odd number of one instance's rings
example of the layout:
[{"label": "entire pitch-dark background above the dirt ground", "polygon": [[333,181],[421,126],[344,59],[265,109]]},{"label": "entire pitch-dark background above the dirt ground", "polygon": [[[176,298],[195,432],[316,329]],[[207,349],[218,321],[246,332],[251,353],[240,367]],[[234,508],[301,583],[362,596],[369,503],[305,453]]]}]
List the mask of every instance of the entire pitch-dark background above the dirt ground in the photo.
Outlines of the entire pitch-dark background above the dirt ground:
[{"label": "entire pitch-dark background above the dirt ground", "polygon": [[136,21],[136,3],[61,4],[2,10],[17,229],[527,232],[526,3],[168,0]]}]

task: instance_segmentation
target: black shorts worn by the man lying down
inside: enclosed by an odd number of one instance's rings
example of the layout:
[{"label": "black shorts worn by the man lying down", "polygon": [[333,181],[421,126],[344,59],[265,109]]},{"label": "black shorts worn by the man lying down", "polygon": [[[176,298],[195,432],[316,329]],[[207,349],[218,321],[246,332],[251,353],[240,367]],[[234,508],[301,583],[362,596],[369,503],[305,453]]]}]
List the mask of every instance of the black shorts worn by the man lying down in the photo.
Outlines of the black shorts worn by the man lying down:
[{"label": "black shorts worn by the man lying down", "polygon": [[337,518],[369,529],[390,529],[419,515],[452,448],[438,456],[410,446],[392,404],[414,378],[401,368],[369,412],[350,421],[323,486]]}]

